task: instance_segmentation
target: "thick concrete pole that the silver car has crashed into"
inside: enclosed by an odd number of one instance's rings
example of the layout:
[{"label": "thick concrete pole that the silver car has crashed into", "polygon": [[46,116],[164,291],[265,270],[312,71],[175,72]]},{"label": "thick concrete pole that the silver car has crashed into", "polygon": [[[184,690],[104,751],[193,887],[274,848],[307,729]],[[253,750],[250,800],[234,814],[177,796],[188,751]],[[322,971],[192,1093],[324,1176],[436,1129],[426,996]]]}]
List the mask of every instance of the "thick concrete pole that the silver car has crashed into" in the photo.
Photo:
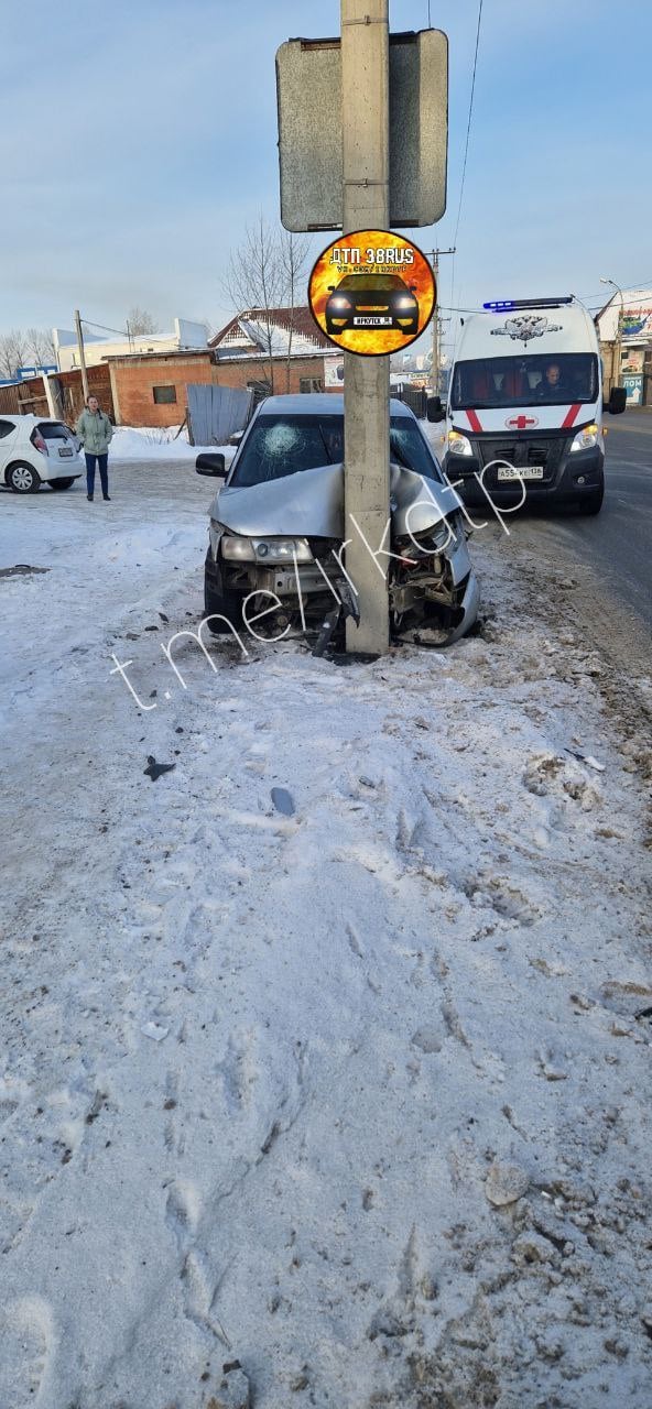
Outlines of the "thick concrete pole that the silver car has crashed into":
[{"label": "thick concrete pole that the silver car has crashed into", "polygon": [[[342,0],[344,235],[390,223],[388,10],[388,0]],[[360,607],[360,626],[346,623],[347,651],[382,655],[390,647],[390,559],[374,561],[371,552],[378,552],[390,519],[388,356],[344,352],[344,514],[346,571]],[[388,538],[390,530],[387,550]]]}]

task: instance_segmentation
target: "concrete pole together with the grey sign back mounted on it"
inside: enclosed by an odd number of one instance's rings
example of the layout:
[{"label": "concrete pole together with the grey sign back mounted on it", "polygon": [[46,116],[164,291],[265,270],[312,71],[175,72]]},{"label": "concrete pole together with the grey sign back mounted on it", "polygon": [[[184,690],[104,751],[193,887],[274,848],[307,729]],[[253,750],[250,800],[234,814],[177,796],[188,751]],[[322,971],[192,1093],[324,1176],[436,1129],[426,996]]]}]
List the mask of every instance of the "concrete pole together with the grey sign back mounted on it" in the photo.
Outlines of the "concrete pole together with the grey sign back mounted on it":
[{"label": "concrete pole together with the grey sign back mounted on it", "polygon": [[[447,37],[390,35],[388,0],[340,0],[340,35],[277,51],[281,221],[289,231],[394,231],[446,210]],[[329,120],[325,123],[325,113]],[[336,338],[332,340],[336,342]],[[390,645],[390,356],[344,351],[347,651]]]}]

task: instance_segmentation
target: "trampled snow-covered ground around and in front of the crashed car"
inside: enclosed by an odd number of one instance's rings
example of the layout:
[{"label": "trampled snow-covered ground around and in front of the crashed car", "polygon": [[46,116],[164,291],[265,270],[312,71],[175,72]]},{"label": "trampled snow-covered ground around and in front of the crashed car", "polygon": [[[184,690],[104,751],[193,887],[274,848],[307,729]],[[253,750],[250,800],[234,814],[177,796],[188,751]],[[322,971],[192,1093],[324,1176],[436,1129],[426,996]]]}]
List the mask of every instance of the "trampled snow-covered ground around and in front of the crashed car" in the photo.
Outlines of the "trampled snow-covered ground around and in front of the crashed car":
[{"label": "trampled snow-covered ground around and in front of the crashed car", "polygon": [[0,1406],[649,1409],[646,666],[485,530],[481,635],[183,689],[210,489],[0,495]]}]

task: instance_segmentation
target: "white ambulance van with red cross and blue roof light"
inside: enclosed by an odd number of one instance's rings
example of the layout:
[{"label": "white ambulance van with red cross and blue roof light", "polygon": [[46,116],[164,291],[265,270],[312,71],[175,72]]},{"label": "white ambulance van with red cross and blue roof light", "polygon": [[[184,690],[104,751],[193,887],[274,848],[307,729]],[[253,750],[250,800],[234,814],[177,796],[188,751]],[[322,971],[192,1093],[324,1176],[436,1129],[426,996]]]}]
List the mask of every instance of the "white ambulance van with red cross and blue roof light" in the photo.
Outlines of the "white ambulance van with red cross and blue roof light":
[{"label": "white ambulance van with red cross and blue roof light", "polygon": [[625,410],[614,387],[603,407],[603,368],[590,313],[576,299],[485,303],[463,327],[445,421],[443,468],[467,503],[574,502],[600,513],[604,497],[603,410]]}]

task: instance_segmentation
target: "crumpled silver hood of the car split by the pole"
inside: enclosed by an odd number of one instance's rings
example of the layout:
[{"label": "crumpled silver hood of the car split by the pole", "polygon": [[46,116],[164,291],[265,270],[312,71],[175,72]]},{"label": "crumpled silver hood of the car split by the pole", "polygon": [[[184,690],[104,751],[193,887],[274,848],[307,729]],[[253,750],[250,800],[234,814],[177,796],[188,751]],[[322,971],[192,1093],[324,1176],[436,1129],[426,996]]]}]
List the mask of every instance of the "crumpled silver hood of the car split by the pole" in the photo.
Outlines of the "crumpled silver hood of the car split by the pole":
[{"label": "crumpled silver hood of the car split by the pole", "polygon": [[[394,537],[419,534],[460,509],[447,485],[392,464],[391,514]],[[344,466],[319,465],[264,485],[222,489],[212,517],[244,537],[344,538]],[[349,534],[350,537],[350,534]]]}]

